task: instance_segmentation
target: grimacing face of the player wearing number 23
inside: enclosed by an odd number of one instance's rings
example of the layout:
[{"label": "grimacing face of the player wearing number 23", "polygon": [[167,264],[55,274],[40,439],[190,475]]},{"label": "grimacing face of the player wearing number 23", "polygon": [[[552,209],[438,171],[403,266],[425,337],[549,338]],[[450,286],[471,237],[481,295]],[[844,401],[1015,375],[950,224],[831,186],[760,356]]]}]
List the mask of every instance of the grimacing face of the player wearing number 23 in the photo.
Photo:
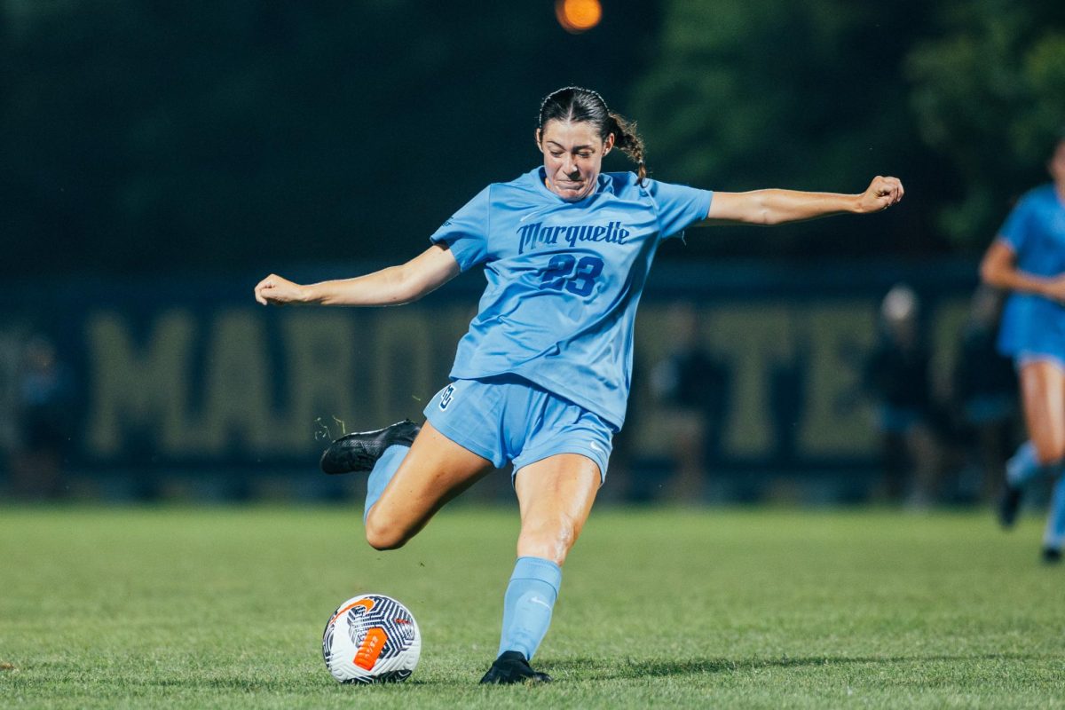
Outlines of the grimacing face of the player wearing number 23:
[{"label": "grimacing face of the player wearing number 23", "polygon": [[603,156],[613,147],[613,133],[603,141],[588,121],[550,120],[537,132],[537,145],[543,153],[547,188],[575,202],[595,191]]}]

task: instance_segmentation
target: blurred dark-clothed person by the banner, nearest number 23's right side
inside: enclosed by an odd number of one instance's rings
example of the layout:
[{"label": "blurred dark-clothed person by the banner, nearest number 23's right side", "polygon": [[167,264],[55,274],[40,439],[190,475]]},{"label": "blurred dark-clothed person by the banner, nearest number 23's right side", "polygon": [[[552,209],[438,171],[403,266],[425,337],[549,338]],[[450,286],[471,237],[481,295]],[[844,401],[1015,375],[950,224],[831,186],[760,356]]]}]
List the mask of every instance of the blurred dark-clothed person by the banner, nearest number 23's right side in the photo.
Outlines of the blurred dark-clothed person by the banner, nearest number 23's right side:
[{"label": "blurred dark-clothed person by the banner, nearest number 23's right side", "polygon": [[719,458],[728,412],[728,365],[703,345],[699,311],[689,301],[668,314],[672,337],[668,354],[655,364],[651,387],[668,419],[673,476],[670,496],[700,502],[709,461]]}]

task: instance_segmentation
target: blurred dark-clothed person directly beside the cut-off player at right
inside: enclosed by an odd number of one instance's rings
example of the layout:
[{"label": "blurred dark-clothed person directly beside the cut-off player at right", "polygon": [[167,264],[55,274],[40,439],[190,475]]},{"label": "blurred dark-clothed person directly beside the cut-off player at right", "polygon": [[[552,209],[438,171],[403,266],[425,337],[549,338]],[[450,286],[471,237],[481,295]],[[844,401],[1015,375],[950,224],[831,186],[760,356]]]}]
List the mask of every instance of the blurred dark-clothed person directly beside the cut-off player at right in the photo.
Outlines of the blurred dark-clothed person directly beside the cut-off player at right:
[{"label": "blurred dark-clothed person directly beside the cut-off player at right", "polygon": [[996,347],[1001,310],[999,291],[981,285],[972,294],[952,378],[954,412],[984,501],[1000,493],[1003,462],[1016,446],[1017,378]]}]

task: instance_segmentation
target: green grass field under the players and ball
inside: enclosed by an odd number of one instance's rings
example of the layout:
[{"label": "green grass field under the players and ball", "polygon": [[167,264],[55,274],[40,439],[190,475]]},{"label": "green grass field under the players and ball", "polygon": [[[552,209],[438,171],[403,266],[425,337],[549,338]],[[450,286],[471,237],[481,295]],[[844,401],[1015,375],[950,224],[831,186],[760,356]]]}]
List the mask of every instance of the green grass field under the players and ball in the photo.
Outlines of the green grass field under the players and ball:
[{"label": "green grass field under the players and ball", "polygon": [[[987,513],[593,512],[537,665],[495,655],[513,511],[445,510],[406,549],[357,509],[0,508],[0,706],[1065,707],[1065,568]],[[422,661],[340,686],[322,628],[405,601]]]}]

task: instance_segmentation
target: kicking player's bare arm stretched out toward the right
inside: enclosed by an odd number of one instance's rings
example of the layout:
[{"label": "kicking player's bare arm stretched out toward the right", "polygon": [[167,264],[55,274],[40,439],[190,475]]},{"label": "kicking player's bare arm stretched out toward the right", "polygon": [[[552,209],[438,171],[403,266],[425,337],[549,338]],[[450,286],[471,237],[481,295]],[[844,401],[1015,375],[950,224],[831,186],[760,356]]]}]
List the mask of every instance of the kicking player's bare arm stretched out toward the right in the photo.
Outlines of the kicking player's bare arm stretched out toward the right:
[{"label": "kicking player's bare arm stretched out toward the right", "polygon": [[796,189],[754,189],[749,193],[714,193],[702,226],[784,225],[834,214],[867,214],[886,210],[902,199],[902,181],[875,177],[858,195],[806,193]]}]

